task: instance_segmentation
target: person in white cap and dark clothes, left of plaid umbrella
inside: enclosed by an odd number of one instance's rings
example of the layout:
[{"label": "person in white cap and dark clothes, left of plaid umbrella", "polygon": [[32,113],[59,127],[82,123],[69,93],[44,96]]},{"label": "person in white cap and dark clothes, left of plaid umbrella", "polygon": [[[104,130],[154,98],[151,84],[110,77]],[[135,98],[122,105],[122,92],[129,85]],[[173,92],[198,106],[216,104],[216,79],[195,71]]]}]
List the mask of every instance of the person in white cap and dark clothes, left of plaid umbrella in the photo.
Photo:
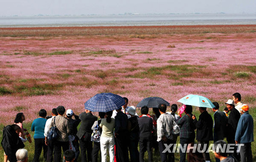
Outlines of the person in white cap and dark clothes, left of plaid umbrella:
[{"label": "person in white cap and dark clothes, left of plaid umbrella", "polygon": [[[74,116],[75,119],[72,119],[72,117]],[[66,119],[68,119],[69,122],[69,127],[70,127],[70,134],[69,134],[69,140],[72,142],[73,146],[75,147],[75,162],[78,159],[80,150],[79,150],[79,138],[76,136],[77,133],[77,126],[79,125],[79,123],[81,122],[81,120],[79,119],[79,116],[75,115],[75,113],[71,110],[68,109],[66,112]]]}]

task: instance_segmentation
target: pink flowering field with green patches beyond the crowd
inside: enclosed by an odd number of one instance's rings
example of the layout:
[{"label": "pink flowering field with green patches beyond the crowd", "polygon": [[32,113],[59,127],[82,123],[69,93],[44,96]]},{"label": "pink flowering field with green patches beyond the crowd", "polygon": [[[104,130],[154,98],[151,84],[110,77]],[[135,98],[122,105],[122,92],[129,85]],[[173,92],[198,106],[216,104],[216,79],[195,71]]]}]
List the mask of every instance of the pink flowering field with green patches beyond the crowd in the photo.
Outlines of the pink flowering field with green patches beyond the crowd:
[{"label": "pink flowering field with green patches beyond the crowd", "polygon": [[0,122],[11,124],[18,112],[24,112],[25,122],[31,122],[40,109],[51,115],[58,105],[80,114],[84,102],[102,92],[127,97],[129,105],[157,96],[181,106],[177,100],[197,94],[219,102],[221,109],[239,92],[253,109],[255,29],[193,34],[4,35],[0,37]]}]

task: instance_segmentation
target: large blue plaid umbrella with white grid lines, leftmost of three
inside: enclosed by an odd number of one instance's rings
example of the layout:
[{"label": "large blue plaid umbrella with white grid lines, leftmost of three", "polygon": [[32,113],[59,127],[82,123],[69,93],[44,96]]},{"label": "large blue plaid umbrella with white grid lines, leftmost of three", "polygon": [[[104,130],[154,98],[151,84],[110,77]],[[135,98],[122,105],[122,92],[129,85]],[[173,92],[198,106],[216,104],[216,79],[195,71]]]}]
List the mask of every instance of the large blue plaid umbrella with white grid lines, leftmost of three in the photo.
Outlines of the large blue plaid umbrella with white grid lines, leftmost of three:
[{"label": "large blue plaid umbrella with white grid lines, leftmost of three", "polygon": [[119,109],[124,104],[124,99],[119,95],[113,93],[100,93],[84,103],[84,107],[92,112],[109,112]]}]

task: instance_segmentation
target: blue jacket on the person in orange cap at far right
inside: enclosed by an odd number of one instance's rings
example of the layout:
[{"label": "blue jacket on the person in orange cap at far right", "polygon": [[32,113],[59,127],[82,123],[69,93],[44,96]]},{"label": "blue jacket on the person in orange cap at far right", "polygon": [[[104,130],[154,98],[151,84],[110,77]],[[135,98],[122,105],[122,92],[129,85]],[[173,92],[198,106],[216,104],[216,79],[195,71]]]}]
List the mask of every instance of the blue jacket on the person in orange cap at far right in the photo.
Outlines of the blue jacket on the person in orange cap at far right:
[{"label": "blue jacket on the person in orange cap at far right", "polygon": [[253,119],[248,112],[239,119],[235,140],[241,144],[253,142]]}]

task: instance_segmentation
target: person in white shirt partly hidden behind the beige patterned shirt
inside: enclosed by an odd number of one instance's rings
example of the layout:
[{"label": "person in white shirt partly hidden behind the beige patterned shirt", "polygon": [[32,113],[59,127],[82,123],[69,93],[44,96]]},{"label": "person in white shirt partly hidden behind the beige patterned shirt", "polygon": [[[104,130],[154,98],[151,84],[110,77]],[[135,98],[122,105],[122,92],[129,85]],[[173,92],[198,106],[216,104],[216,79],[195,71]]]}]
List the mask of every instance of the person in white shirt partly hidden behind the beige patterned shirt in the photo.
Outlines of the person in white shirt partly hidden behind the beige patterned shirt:
[{"label": "person in white shirt partly hidden behind the beige patterned shirt", "polygon": [[52,109],[52,117],[47,119],[47,121],[46,121],[45,134],[44,135],[45,135],[45,143],[47,145],[47,160],[46,160],[47,162],[52,162],[53,161],[53,156],[52,156],[52,154],[53,154],[53,141],[47,139],[47,134],[48,134],[48,131],[50,129],[50,124],[52,123],[52,119],[54,117],[56,117],[57,115],[58,115],[57,109],[56,108]]}]

